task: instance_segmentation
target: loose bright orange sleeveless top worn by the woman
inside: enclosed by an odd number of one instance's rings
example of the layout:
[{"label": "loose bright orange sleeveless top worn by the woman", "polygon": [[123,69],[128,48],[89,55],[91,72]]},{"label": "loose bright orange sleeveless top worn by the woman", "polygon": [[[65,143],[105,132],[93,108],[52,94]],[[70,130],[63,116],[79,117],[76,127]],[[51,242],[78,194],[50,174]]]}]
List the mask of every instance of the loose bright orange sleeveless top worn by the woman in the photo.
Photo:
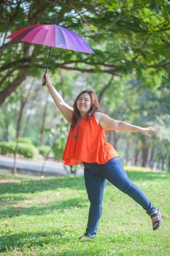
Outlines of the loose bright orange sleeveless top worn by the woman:
[{"label": "loose bright orange sleeveless top worn by the woman", "polygon": [[63,152],[65,165],[81,165],[82,162],[104,164],[113,157],[118,157],[118,154],[107,143],[105,131],[98,125],[94,115],[90,119],[82,118],[79,125],[70,129]]}]

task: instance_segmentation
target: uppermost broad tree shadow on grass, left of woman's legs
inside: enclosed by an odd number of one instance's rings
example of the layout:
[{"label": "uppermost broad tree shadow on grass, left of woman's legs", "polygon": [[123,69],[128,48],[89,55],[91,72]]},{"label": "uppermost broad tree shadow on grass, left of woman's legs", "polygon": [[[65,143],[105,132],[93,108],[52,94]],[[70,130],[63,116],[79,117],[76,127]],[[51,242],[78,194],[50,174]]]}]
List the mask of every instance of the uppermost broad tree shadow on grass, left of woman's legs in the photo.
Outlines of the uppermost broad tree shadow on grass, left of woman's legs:
[{"label": "uppermost broad tree shadow on grass, left of woman's legs", "polygon": [[9,182],[1,184],[0,194],[10,193],[35,193],[45,190],[55,190],[58,188],[84,189],[84,180],[82,176],[45,178],[36,181],[26,180],[20,183]]}]

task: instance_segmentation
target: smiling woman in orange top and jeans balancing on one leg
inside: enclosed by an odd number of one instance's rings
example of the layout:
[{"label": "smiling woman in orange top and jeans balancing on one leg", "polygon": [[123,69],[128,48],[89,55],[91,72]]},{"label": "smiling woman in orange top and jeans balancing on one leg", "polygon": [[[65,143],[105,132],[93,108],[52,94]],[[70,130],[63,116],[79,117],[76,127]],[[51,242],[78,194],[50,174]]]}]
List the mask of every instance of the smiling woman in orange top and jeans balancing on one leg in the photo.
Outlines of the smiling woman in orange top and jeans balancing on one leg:
[{"label": "smiling woman in orange top and jeans balancing on one leg", "polygon": [[117,189],[139,203],[152,219],[152,229],[157,230],[161,226],[161,212],[152,205],[139,187],[133,184],[113,148],[105,136],[105,130],[120,130],[123,132],[140,132],[150,136],[156,132],[154,127],[137,127],[124,121],[118,121],[101,113],[100,105],[92,91],[82,91],[75,99],[73,108],[63,101],[50,81],[49,75],[45,75],[42,81],[46,81],[55,104],[71,124],[66,148],[63,153],[65,165],[83,164],[85,187],[90,200],[88,226],[85,234],[80,238],[96,237],[99,219],[102,212],[102,199],[104,187],[110,181]]}]

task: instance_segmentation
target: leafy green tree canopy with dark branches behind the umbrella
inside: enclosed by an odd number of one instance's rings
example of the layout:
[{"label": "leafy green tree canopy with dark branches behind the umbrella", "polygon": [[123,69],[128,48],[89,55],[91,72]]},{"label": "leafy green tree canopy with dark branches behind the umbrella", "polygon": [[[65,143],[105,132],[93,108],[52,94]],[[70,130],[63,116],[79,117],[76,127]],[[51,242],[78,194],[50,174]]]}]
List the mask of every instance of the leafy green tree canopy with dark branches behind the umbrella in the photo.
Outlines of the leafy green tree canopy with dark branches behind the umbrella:
[{"label": "leafy green tree canopy with dark branches behind the umbrella", "polygon": [[5,37],[23,26],[53,23],[55,17],[59,25],[82,34],[96,54],[53,50],[52,72],[60,68],[114,77],[133,73],[147,87],[170,87],[168,7],[165,0],[3,2],[0,104],[28,75],[42,75],[47,52],[45,47],[11,43]]}]

